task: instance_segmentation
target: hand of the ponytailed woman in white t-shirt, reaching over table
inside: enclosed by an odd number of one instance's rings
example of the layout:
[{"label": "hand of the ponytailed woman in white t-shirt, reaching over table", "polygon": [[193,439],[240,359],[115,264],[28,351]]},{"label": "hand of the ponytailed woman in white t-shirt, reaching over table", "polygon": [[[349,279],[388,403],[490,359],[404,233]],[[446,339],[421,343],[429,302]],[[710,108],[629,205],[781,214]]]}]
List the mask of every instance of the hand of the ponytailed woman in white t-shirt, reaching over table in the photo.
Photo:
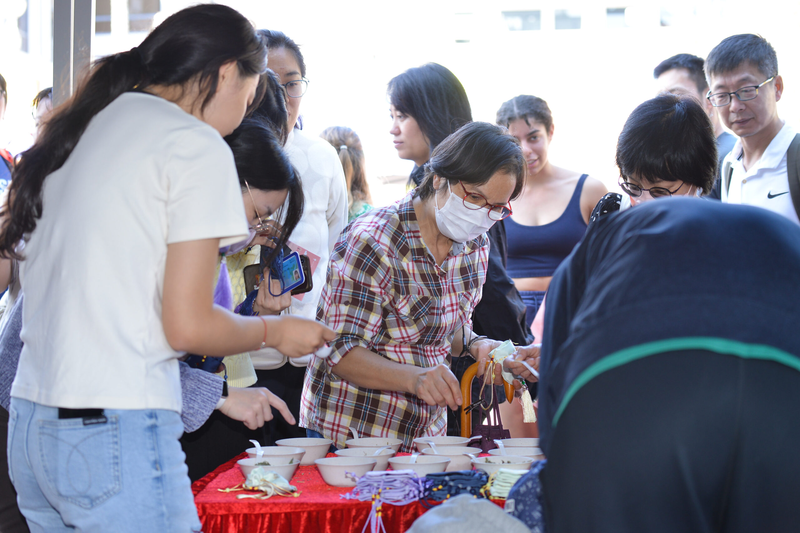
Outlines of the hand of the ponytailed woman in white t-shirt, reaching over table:
[{"label": "hand of the ponytailed woman in white t-shirt, reaching over table", "polygon": [[307,356],[336,338],[334,330],[325,324],[302,316],[282,315],[265,318],[266,344],[286,357]]}]

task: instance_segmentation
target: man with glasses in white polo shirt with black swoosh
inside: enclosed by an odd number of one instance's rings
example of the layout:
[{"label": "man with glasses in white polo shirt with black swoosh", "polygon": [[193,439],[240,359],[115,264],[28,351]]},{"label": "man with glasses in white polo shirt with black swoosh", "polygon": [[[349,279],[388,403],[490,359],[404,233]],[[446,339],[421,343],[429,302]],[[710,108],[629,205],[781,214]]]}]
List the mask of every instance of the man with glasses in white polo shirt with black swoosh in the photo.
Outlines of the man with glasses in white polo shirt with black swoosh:
[{"label": "man with glasses in white polo shirt with black swoosh", "polygon": [[722,163],[722,201],[758,205],[800,224],[800,197],[793,201],[800,191],[790,192],[787,173],[796,132],[778,117],[783,79],[775,50],[760,35],[734,35],[711,50],[705,70],[711,104],[739,137]]}]

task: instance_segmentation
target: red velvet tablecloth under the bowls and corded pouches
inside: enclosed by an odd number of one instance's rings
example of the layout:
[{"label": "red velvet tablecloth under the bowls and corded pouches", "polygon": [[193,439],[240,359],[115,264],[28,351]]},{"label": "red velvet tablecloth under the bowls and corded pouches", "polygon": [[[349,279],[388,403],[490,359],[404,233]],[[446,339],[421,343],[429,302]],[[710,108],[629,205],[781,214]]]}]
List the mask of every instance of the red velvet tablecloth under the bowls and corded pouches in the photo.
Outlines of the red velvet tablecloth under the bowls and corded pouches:
[{"label": "red velvet tablecloth under the bowls and corded pouches", "polygon": [[[372,504],[339,495],[352,487],[331,487],[315,466],[298,467],[290,483],[301,493],[297,498],[237,499],[245,492],[220,492],[244,481],[236,461],[239,455],[192,484],[194,503],[205,533],[360,533]],[[426,511],[418,502],[384,504],[386,533],[402,533]],[[369,529],[367,529],[369,531]]]}]

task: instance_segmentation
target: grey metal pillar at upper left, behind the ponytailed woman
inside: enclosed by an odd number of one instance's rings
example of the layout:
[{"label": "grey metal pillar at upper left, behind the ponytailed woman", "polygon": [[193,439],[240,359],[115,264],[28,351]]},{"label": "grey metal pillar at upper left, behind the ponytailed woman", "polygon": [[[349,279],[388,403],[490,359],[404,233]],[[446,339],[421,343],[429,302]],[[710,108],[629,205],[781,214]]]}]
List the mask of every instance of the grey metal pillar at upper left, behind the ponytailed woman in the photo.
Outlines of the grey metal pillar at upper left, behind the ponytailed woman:
[{"label": "grey metal pillar at upper left, behind the ponytailed woman", "polygon": [[93,0],[53,0],[53,105],[61,105],[89,70]]}]

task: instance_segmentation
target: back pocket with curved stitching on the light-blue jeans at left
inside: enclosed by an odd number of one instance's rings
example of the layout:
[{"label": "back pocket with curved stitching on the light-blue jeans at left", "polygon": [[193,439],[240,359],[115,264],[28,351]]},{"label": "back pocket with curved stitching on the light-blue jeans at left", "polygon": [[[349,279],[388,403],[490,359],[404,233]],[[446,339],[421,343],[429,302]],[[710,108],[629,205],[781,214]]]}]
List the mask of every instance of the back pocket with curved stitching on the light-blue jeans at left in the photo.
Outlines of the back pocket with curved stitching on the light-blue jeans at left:
[{"label": "back pocket with curved stitching on the light-blue jeans at left", "polygon": [[81,418],[39,420],[39,453],[50,490],[91,509],[122,490],[119,419],[84,425]]}]

